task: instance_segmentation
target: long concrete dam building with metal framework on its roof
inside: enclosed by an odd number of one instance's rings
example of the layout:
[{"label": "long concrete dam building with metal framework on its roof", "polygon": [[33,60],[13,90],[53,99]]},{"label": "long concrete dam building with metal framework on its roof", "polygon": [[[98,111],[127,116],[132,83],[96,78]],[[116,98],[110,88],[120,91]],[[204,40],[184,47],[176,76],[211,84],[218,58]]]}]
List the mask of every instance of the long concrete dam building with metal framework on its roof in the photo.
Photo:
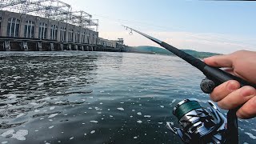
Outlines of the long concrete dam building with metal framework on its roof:
[{"label": "long concrete dam building with metal framework on its roof", "polygon": [[58,0],[0,0],[0,51],[122,51],[98,37],[98,19]]}]

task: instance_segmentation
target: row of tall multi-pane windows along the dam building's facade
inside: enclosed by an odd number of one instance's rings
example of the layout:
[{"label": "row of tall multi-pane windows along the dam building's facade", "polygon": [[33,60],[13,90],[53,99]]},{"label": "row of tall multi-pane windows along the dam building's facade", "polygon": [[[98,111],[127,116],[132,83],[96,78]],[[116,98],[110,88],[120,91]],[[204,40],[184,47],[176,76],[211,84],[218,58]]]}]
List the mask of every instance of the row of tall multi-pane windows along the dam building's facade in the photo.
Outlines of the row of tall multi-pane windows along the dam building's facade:
[{"label": "row of tall multi-pane windows along the dam building's facade", "polygon": [[[0,30],[1,30],[1,23],[2,18],[0,17]],[[17,18],[9,18],[8,19],[8,26],[7,26],[7,36],[9,37],[18,37],[20,27],[20,20]],[[24,27],[24,38],[35,38],[34,36],[34,28],[35,24],[33,21],[26,21]],[[89,34],[86,35],[86,32],[82,34],[82,43],[89,43]],[[57,40],[58,36],[58,26],[51,25],[50,26],[50,39]],[[39,39],[46,39],[47,38],[47,24],[40,22],[39,23],[39,30],[38,30],[38,38]],[[68,42],[79,42],[80,39],[80,31],[76,31],[74,34],[74,30],[68,30]],[[60,41],[66,42],[66,27],[60,28]]]}]

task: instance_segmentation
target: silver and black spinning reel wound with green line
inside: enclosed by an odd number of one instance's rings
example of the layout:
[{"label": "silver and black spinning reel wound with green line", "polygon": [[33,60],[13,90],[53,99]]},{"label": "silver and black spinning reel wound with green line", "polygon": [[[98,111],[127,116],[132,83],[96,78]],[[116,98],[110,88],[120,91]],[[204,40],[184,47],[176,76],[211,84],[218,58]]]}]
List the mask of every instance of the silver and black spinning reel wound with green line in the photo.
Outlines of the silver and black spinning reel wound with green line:
[{"label": "silver and black spinning reel wound with green line", "polygon": [[214,102],[208,103],[210,108],[206,109],[194,98],[178,102],[173,114],[182,128],[171,126],[170,122],[167,128],[185,143],[225,143],[227,120]]}]

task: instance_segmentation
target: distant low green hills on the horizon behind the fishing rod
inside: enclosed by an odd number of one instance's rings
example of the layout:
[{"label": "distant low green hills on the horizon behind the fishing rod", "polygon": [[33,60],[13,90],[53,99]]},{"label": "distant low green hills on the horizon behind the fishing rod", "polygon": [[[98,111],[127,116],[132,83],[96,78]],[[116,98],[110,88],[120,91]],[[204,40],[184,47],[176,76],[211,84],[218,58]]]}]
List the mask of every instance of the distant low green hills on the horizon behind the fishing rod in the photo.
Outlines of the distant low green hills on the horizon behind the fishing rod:
[{"label": "distant low green hills on the horizon behind the fishing rod", "polygon": [[[144,54],[168,54],[173,55],[169,50],[162,49],[160,47],[154,47],[154,46],[137,46],[137,47],[127,47],[127,52],[134,52],[134,53],[144,53]],[[210,52],[198,52],[195,50],[182,50],[186,52],[187,54],[193,55],[196,58],[206,58],[213,55],[218,55],[216,53],[210,53]]]}]

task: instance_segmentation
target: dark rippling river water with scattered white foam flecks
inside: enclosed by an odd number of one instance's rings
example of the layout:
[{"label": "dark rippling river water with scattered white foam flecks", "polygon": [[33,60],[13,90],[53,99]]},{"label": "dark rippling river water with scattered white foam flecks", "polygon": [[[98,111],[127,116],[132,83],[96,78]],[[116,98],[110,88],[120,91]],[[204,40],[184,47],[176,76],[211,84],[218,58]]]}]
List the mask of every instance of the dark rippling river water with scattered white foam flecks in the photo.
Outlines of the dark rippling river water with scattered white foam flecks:
[{"label": "dark rippling river water with scattered white foam flecks", "polygon": [[[181,143],[165,126],[174,106],[209,99],[198,70],[163,55],[2,52],[0,74],[2,144]],[[255,118],[239,126],[255,143]]]}]

